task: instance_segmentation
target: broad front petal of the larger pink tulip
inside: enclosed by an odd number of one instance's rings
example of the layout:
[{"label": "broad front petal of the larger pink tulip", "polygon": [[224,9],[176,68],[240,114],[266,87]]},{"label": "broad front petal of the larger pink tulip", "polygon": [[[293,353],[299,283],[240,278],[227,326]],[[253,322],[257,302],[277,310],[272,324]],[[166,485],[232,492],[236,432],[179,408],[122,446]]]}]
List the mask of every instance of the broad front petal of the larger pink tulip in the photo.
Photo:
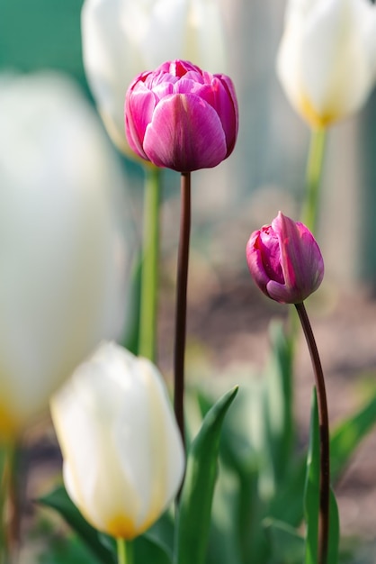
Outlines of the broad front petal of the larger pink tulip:
[{"label": "broad front petal of the larger pink tulip", "polygon": [[157,167],[178,172],[215,167],[227,153],[218,114],[190,94],[167,96],[159,102],[143,148]]}]

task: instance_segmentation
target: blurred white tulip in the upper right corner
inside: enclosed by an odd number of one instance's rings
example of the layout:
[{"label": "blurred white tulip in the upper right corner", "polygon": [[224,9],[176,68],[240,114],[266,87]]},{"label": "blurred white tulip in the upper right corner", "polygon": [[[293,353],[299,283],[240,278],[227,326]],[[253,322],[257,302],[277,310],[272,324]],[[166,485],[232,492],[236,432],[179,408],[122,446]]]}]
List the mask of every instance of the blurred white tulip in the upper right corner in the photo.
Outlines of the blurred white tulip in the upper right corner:
[{"label": "blurred white tulip in the upper right corner", "polygon": [[291,105],[315,128],[356,112],[376,78],[376,5],[290,0],[277,59]]}]

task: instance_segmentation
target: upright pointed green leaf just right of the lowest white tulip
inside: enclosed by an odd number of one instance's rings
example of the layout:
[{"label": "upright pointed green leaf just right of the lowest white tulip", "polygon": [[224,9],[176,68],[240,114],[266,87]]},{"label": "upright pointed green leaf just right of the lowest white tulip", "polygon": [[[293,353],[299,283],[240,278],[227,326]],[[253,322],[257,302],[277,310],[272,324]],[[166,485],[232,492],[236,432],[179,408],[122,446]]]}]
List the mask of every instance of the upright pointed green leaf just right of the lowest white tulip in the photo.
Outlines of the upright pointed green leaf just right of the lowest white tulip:
[{"label": "upright pointed green leaf just right of the lowest white tulip", "polygon": [[178,509],[175,564],[203,564],[205,561],[211,504],[218,474],[220,431],[236,395],[237,387],[211,407],[189,449]]}]

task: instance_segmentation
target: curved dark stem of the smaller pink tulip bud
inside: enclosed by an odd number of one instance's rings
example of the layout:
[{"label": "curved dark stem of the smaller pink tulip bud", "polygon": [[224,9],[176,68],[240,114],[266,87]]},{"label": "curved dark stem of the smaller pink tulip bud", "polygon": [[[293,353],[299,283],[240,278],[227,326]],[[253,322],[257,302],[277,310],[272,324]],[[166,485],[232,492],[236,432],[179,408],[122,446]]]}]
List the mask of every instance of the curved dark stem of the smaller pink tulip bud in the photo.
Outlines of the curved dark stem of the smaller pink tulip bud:
[{"label": "curved dark stem of the smaller pink tulip bud", "polygon": [[318,519],[318,564],[327,564],[329,540],[329,499],[330,499],[330,453],[329,453],[329,417],[327,414],[327,392],[324,374],[318,356],[318,347],[309,323],[304,304],[295,305],[304,335],[309,347],[309,355],[315,374],[318,392],[318,425],[320,438],[320,500]]}]

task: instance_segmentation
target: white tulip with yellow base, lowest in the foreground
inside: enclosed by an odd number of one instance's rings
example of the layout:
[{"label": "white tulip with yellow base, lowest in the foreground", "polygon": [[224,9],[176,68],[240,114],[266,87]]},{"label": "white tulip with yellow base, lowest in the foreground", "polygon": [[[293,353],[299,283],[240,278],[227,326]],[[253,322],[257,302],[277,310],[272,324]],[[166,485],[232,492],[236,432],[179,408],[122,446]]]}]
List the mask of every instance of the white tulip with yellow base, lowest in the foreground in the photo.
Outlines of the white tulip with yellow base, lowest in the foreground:
[{"label": "white tulip with yellow base, lowest in the foreground", "polygon": [[166,510],[184,449],[157,368],[111,342],[51,399],[67,493],[86,521],[130,540]]}]

